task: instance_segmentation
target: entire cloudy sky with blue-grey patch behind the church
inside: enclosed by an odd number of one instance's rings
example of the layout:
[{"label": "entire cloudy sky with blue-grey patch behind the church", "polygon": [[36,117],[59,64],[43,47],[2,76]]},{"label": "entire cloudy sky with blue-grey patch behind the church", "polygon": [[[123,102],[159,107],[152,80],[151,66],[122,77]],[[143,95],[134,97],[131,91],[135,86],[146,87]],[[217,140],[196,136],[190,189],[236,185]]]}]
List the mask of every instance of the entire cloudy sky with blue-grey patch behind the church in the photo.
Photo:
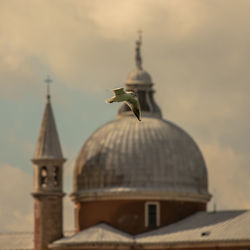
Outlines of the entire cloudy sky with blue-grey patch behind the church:
[{"label": "entire cloudy sky with blue-grey patch behind the church", "polygon": [[249,10],[249,0],[1,0],[0,231],[33,229],[46,75],[70,193],[84,141],[116,117],[119,105],[104,100],[134,68],[138,29],[155,99],[200,146],[217,209],[250,209]]}]

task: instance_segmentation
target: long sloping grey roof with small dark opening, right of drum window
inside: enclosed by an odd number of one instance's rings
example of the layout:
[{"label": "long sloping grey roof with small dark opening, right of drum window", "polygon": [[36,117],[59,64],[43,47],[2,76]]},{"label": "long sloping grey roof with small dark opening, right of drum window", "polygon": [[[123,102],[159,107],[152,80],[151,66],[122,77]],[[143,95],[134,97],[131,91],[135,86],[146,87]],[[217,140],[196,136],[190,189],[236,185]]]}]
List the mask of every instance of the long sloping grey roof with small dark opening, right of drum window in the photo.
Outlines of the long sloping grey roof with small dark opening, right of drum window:
[{"label": "long sloping grey roof with small dark opening, right of drum window", "polygon": [[250,210],[198,212],[184,220],[137,235],[140,244],[239,242],[250,244]]}]

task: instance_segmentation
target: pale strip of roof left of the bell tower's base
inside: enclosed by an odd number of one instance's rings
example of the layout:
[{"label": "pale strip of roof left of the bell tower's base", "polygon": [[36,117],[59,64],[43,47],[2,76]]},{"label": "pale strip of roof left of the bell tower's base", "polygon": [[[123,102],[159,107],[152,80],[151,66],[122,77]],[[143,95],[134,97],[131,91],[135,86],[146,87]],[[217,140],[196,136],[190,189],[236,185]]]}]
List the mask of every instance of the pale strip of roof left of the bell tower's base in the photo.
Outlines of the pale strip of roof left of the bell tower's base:
[{"label": "pale strip of roof left of the bell tower's base", "polygon": [[0,233],[1,250],[33,250],[33,233]]}]

